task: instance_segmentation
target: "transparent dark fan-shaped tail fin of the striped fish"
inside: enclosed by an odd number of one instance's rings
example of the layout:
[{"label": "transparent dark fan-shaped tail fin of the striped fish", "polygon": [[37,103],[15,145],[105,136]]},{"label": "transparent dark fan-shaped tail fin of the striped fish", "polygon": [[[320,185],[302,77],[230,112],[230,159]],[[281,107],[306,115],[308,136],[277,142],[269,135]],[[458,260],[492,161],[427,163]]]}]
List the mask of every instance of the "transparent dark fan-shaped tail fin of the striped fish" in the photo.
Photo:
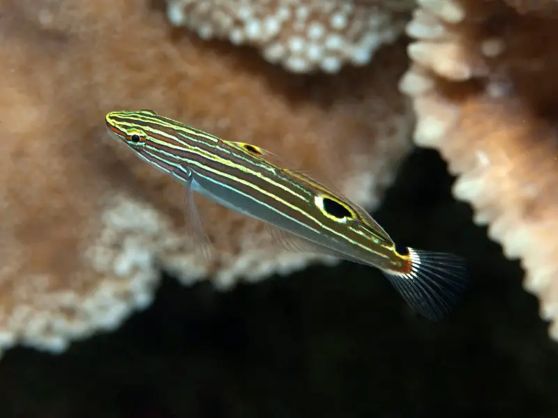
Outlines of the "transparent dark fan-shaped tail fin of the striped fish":
[{"label": "transparent dark fan-shaped tail fin of the striped fish", "polygon": [[408,251],[405,270],[382,271],[414,311],[430,320],[440,320],[465,289],[465,259],[412,248]]}]

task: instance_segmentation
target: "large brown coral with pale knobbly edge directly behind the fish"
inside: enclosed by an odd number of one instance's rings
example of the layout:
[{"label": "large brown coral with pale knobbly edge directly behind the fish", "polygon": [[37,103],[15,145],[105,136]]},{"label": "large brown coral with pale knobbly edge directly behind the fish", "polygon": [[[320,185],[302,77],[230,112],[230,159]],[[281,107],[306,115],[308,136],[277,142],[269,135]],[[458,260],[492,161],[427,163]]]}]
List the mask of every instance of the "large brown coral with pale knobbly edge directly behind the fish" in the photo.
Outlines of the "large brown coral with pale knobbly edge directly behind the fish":
[{"label": "large brown coral with pale knobbly edge directly behind the fish", "polygon": [[145,5],[0,1],[0,348],[63,350],[118,326],[149,303],[160,266],[226,287],[312,260],[201,200],[216,256],[197,260],[181,186],[107,136],[107,111],[151,108],[270,148],[367,206],[409,149],[402,45],[370,68],[293,76],[249,50],[172,33]]}]

